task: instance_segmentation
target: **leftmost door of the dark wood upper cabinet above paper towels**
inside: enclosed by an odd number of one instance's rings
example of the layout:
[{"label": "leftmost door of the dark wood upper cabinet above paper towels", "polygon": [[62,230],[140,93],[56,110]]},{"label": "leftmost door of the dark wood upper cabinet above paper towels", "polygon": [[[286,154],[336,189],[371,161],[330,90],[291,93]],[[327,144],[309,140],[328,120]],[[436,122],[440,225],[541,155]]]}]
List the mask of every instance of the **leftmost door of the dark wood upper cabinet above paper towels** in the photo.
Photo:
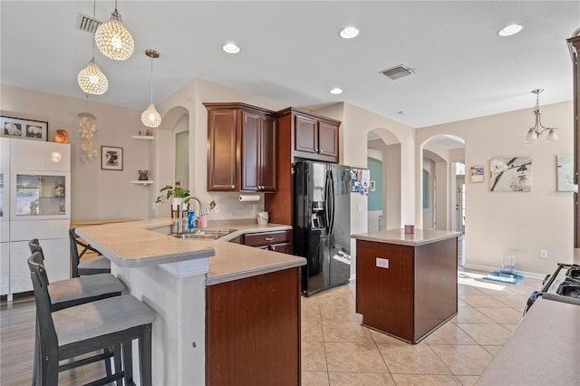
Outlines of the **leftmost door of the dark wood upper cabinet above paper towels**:
[{"label": "leftmost door of the dark wood upper cabinet above paper towels", "polygon": [[237,190],[237,110],[208,111],[208,190]]}]

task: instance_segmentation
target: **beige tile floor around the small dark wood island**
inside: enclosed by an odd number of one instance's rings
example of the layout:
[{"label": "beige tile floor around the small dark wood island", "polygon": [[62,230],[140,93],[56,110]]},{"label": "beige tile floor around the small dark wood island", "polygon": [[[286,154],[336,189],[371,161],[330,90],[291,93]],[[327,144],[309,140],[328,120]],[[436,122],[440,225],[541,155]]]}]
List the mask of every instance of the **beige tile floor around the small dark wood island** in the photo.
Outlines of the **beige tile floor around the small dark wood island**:
[{"label": "beige tile floor around the small dark wood island", "polygon": [[459,271],[458,315],[412,345],[362,327],[355,284],[302,298],[302,384],[472,385],[516,328],[540,280]]}]

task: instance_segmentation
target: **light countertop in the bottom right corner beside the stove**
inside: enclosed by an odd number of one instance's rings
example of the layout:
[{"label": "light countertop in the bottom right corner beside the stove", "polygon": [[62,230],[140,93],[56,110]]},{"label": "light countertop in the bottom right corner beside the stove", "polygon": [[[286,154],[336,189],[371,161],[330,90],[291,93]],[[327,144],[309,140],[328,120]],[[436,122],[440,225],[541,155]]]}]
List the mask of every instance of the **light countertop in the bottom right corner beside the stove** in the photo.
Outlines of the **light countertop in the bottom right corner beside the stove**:
[{"label": "light countertop in the bottom right corner beside the stove", "polygon": [[580,305],[541,296],[478,385],[580,384]]}]

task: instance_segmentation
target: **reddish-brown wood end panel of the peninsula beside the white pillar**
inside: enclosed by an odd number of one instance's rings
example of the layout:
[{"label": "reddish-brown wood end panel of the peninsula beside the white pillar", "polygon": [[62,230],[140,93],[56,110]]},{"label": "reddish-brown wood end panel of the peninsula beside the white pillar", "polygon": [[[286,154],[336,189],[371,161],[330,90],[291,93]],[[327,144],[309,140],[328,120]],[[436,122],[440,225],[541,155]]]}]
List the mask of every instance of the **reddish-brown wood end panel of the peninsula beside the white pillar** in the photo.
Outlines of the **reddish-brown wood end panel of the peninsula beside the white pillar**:
[{"label": "reddish-brown wood end panel of the peninsula beside the white pillar", "polygon": [[206,384],[300,384],[300,268],[206,291]]}]

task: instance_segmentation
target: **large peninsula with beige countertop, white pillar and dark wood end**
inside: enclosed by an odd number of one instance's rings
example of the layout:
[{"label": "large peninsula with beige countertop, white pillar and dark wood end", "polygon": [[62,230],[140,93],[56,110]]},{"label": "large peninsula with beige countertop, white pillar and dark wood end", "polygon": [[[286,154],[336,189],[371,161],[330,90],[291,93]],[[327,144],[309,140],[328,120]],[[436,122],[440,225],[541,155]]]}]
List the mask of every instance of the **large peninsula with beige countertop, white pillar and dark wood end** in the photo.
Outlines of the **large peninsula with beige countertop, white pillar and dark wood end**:
[{"label": "large peninsula with beige countertop, white pillar and dark wood end", "polygon": [[156,312],[153,384],[218,385],[246,376],[299,384],[304,258],[227,242],[290,227],[210,223],[236,229],[211,241],[159,231],[174,224],[156,218],[77,229],[111,259],[111,272],[129,293]]}]

